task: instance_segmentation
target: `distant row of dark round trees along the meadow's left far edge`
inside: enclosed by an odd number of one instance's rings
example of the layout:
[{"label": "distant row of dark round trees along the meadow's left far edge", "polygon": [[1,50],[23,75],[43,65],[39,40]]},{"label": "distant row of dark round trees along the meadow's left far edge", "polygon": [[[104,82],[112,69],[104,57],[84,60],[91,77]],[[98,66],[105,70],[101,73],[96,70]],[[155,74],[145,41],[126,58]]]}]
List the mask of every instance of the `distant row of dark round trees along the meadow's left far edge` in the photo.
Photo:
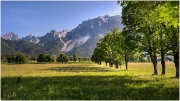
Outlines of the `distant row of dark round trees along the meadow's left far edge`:
[{"label": "distant row of dark round trees along the meadow's left far edge", "polygon": [[[78,55],[74,53],[73,57],[68,57],[66,54],[60,54],[59,57],[56,59],[55,55],[52,54],[46,54],[42,53],[39,54],[38,57],[36,56],[31,56],[30,60],[37,61],[39,63],[53,63],[53,62],[61,62],[61,63],[67,63],[68,61],[89,61],[88,58],[78,58]],[[16,55],[2,55],[1,56],[1,61],[7,62],[7,63],[25,63],[28,61],[27,57],[22,54],[18,53]]]}]

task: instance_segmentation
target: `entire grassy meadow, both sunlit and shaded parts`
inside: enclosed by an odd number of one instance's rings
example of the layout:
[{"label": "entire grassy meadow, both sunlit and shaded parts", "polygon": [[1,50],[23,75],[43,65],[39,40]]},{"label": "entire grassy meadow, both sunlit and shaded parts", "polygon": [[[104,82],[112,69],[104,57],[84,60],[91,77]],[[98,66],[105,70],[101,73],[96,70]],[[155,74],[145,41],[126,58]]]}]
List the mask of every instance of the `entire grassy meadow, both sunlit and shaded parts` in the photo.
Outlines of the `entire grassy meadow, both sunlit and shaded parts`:
[{"label": "entire grassy meadow, both sunlit and shaded parts", "polygon": [[115,69],[91,62],[1,64],[2,100],[178,100],[175,67],[153,74],[151,63]]}]

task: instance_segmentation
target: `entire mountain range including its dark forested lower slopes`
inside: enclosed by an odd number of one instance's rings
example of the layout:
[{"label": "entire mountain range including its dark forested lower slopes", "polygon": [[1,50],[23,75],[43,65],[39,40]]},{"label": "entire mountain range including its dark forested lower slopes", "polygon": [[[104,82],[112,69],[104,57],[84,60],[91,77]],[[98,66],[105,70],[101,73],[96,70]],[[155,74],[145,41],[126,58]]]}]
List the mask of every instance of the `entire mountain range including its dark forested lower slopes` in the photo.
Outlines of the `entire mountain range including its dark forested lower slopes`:
[{"label": "entire mountain range including its dark forested lower slopes", "polygon": [[[20,38],[17,34],[9,32],[1,36],[1,54],[9,54],[11,52],[6,50],[12,50],[31,55],[47,52],[56,56],[61,53],[68,56],[77,53],[80,57],[91,57],[100,38],[103,38],[113,28],[122,29],[124,27],[121,21],[120,15],[104,15],[83,21],[73,30],[57,31],[53,29],[41,37],[31,34]],[[23,50],[17,47],[28,48]],[[28,49],[30,50],[28,51]]]}]

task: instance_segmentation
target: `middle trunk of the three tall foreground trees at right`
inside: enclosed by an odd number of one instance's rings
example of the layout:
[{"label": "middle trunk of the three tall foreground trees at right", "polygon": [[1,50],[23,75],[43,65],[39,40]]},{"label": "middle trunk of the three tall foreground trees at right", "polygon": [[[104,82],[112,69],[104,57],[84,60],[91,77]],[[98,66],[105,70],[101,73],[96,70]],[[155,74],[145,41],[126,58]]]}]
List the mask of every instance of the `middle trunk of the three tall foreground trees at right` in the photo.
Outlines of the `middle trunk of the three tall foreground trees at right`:
[{"label": "middle trunk of the three tall foreground trees at right", "polygon": [[161,65],[162,65],[162,73],[161,73],[161,75],[166,74],[166,64],[165,64],[164,58],[165,58],[165,52],[161,48]]}]

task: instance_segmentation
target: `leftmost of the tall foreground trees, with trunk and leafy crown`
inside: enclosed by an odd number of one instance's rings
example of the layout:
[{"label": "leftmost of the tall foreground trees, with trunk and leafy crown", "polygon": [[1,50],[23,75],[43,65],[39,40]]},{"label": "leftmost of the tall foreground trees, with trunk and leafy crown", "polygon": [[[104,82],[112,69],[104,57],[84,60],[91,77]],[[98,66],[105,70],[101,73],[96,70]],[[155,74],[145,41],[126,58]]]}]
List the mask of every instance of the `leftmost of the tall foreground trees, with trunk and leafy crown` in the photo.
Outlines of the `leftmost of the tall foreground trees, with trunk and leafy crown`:
[{"label": "leftmost of the tall foreground trees, with trunk and leafy crown", "polygon": [[[147,9],[151,8],[154,5],[149,2],[131,2],[124,1],[121,3],[123,7],[122,11],[122,23],[126,26],[124,30],[128,32],[129,36],[140,37],[140,40],[137,40],[137,43],[140,41],[140,46],[142,51],[147,51],[151,57],[151,61],[154,66],[154,74],[158,74],[157,69],[157,46],[155,36],[154,26],[151,26],[147,21],[149,15],[147,15]],[[151,11],[149,12],[151,13]],[[138,39],[138,38],[137,38]]]}]

